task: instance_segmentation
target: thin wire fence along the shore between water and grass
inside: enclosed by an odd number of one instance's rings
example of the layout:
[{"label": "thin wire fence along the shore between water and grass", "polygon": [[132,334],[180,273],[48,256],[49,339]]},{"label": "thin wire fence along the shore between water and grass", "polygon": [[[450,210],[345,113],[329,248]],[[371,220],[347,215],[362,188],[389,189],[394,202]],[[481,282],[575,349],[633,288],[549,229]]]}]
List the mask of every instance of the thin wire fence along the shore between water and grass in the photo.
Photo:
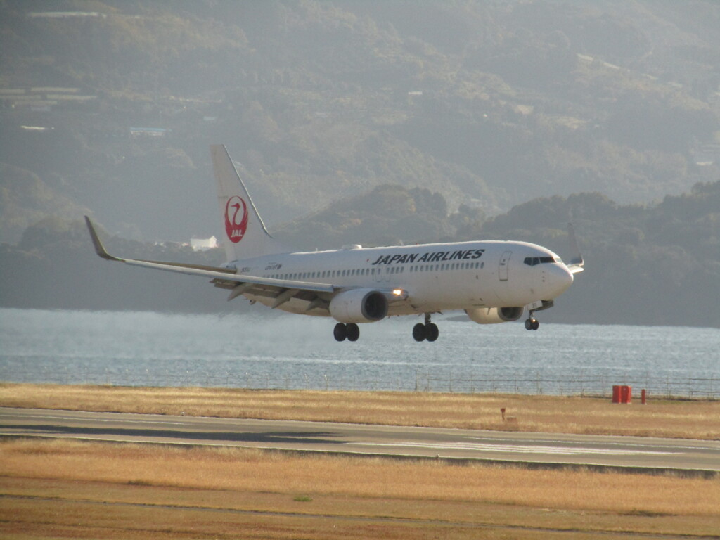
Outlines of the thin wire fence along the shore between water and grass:
[{"label": "thin wire fence along the shore between water and grass", "polygon": [[107,369],[94,372],[50,371],[13,372],[12,379],[0,373],[0,379],[14,382],[50,382],[58,384],[109,384],[114,386],[229,387],[253,390],[370,390],[397,392],[503,393],[524,395],[577,395],[610,397],[615,384],[628,384],[647,390],[651,397],[720,399],[720,377],[613,377],[582,372],[565,377],[534,375],[508,377],[497,373],[421,372],[401,373],[392,377],[361,377],[341,372],[170,372],[150,369]]}]

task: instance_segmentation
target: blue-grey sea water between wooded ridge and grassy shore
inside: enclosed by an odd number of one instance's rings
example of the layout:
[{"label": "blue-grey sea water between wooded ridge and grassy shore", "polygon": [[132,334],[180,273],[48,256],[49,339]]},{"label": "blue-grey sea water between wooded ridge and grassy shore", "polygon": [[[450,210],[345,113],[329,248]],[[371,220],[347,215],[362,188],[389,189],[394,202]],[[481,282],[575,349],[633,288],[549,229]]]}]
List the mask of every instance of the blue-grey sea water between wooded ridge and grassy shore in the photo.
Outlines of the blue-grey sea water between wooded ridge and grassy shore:
[{"label": "blue-grey sea water between wooded ridge and grassy shore", "polygon": [[[260,311],[258,310],[258,313]],[[335,321],[290,315],[179,315],[0,309],[0,380],[132,386],[426,390],[720,397],[717,328],[500,325],[433,317],[361,325],[336,342]]]}]

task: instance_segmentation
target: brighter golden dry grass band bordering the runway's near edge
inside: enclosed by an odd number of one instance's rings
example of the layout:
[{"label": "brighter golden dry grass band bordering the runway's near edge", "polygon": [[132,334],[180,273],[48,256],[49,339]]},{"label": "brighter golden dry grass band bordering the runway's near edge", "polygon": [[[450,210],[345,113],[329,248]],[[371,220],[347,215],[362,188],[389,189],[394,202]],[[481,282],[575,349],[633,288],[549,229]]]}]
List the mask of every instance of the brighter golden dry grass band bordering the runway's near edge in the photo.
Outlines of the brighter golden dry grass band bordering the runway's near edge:
[{"label": "brighter golden dry grass band bordering the runway's near edge", "polygon": [[[0,474],[202,490],[491,501],[611,512],[720,515],[720,480],[451,466],[254,449],[158,448],[79,441],[0,442]],[[698,493],[703,497],[699,498]]]}]

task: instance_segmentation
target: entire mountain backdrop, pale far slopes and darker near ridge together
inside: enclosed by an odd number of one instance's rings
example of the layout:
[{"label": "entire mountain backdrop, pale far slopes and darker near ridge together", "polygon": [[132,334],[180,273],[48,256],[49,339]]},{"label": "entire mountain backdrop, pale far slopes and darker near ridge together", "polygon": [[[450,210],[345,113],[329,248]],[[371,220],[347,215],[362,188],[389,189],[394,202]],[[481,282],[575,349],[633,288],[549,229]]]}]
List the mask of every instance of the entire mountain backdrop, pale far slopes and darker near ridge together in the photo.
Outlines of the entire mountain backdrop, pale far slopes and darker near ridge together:
[{"label": "entire mountain backdrop, pale far slopes and darker near ridge together", "polygon": [[222,262],[166,241],[220,235],[225,143],[298,248],[562,254],[572,220],[547,320],[717,325],[718,28],[713,0],[0,0],[0,305],[244,309],[78,221]]}]

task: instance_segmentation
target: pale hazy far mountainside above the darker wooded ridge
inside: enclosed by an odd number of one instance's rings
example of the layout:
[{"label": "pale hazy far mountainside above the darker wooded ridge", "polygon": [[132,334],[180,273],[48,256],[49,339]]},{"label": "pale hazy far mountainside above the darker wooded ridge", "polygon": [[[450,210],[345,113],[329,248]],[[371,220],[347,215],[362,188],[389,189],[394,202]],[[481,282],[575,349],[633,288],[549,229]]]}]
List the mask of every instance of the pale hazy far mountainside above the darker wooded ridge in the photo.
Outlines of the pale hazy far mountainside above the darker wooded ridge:
[{"label": "pale hazy far mountainside above the darker wooded ridge", "polygon": [[210,143],[274,225],[385,184],[654,202],[720,176],[719,27],[712,0],[0,0],[0,241],[86,210],[209,236]]}]

